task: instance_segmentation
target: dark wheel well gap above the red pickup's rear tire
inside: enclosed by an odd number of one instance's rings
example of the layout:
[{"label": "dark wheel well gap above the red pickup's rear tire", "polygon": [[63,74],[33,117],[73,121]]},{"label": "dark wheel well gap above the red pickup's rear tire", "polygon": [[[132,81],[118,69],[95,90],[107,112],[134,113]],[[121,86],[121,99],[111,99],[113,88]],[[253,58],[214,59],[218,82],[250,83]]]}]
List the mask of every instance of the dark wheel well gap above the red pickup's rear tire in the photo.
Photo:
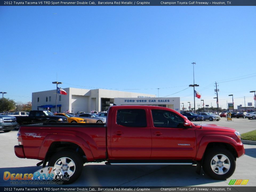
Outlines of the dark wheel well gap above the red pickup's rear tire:
[{"label": "dark wheel well gap above the red pickup's rear tire", "polygon": [[[50,157],[59,151],[73,151],[78,153],[82,158],[85,156],[84,151],[79,145],[72,142],[55,141],[51,143],[51,146],[46,153],[46,160],[49,161]],[[84,162],[87,162],[86,159],[84,159]]]}]

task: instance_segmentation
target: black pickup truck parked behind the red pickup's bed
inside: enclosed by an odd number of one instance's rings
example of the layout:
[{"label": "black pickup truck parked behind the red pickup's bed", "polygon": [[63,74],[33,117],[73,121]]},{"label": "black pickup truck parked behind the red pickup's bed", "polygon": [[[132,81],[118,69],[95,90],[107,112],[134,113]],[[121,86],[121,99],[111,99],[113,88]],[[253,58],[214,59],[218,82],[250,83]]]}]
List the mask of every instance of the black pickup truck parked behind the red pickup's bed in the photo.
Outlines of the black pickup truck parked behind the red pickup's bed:
[{"label": "black pickup truck parked behind the red pickup's bed", "polygon": [[18,130],[21,125],[32,125],[37,123],[67,123],[67,118],[56,116],[47,110],[32,110],[29,116],[17,116],[17,125],[15,130]]}]

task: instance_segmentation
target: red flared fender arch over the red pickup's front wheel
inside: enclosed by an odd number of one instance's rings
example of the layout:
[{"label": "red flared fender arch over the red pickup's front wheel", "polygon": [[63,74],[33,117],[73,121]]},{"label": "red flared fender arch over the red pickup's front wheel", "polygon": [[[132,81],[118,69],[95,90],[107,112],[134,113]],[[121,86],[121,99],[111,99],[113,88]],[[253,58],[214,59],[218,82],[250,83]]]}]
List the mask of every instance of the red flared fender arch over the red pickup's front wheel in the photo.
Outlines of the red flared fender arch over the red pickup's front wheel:
[{"label": "red flared fender arch over the red pickup's front wheel", "polygon": [[[202,137],[198,145],[196,161],[200,161],[203,158],[206,147],[209,143],[227,143],[236,149],[235,144],[237,143],[233,138],[224,135],[206,135]],[[237,151],[237,150],[236,150]]]}]

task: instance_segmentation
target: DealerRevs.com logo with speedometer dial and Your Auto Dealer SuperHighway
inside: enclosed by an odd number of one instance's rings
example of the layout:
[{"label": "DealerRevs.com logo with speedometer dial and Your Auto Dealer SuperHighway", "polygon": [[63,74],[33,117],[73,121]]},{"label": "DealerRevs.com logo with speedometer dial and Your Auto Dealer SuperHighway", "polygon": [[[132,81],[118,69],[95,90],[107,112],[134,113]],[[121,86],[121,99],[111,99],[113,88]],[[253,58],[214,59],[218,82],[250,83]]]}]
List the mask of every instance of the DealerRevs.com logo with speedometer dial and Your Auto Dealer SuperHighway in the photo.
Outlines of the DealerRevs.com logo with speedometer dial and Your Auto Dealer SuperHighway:
[{"label": "DealerRevs.com logo with speedometer dial and Your Auto Dealer SuperHighway", "polygon": [[62,174],[55,167],[44,167],[34,173],[3,173],[5,181],[10,180],[11,185],[42,185],[42,184],[57,184],[61,185],[63,181],[69,180],[68,174]]}]

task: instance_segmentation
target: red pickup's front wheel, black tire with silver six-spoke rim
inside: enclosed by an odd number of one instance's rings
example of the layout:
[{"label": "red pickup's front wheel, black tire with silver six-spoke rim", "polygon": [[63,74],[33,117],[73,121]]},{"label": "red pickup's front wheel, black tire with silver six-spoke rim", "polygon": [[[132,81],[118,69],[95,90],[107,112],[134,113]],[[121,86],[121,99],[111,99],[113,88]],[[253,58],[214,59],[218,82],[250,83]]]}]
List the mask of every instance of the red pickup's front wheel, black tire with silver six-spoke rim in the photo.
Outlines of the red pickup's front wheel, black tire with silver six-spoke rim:
[{"label": "red pickup's front wheel, black tire with silver six-spoke rim", "polygon": [[235,157],[226,149],[212,148],[206,152],[202,167],[205,173],[213,179],[227,179],[235,171]]}]

